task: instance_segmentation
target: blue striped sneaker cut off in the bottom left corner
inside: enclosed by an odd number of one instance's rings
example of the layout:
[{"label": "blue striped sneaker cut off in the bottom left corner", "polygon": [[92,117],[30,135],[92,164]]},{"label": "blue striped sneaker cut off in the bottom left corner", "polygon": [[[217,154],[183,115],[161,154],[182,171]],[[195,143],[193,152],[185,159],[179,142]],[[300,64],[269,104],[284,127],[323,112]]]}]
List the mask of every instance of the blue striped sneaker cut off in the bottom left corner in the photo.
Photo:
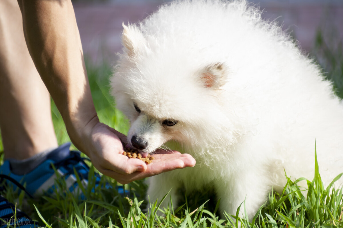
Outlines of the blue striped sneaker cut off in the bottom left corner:
[{"label": "blue striped sneaker cut off in the bottom left corner", "polygon": [[0,224],[0,228],[9,227],[8,225],[20,228],[38,227],[30,217],[19,209],[16,209],[12,203],[8,202],[2,196],[0,196]]}]

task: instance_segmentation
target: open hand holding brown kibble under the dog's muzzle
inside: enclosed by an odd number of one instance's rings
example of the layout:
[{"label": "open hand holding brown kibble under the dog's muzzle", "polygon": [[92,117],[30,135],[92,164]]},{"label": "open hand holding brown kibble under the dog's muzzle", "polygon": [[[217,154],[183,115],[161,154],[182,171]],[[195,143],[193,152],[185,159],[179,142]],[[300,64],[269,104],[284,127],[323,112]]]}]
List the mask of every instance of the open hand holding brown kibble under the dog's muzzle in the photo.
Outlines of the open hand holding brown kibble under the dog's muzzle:
[{"label": "open hand holding brown kibble under the dog's muzzle", "polygon": [[84,152],[100,173],[114,178],[121,184],[154,176],[178,168],[194,166],[196,161],[189,154],[178,151],[157,150],[155,160],[149,165],[139,159],[129,159],[123,155],[121,141],[126,136],[100,122],[96,123],[89,132],[87,148]]}]

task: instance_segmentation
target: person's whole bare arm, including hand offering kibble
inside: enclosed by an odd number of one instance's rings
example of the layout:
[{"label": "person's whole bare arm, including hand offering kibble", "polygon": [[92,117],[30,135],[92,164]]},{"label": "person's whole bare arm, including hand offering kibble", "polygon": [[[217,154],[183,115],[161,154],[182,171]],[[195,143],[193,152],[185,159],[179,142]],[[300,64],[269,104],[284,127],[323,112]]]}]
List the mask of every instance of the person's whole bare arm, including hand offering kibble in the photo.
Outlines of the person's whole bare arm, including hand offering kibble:
[{"label": "person's whole bare arm, including hand offering kibble", "polygon": [[66,124],[71,141],[103,174],[120,183],[193,166],[189,155],[160,155],[154,165],[121,155],[118,131],[99,122],[70,0],[18,0],[26,44]]}]

